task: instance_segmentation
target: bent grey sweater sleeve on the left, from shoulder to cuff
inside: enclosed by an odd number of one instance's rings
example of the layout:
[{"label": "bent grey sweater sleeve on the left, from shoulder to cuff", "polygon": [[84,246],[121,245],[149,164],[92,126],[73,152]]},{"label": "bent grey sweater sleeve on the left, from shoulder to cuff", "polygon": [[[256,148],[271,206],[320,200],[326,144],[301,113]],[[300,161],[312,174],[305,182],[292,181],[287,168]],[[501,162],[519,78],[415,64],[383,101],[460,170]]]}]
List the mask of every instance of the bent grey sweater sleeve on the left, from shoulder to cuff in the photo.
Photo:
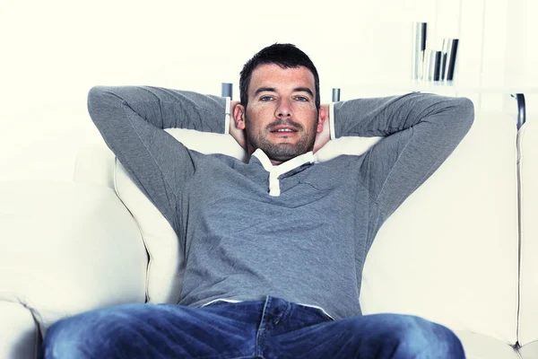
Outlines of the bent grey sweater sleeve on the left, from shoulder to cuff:
[{"label": "bent grey sweater sleeve on the left, from shoulder to cuff", "polygon": [[93,87],[88,110],[129,176],[178,232],[178,197],[199,153],[164,128],[225,132],[226,100],[155,87]]}]

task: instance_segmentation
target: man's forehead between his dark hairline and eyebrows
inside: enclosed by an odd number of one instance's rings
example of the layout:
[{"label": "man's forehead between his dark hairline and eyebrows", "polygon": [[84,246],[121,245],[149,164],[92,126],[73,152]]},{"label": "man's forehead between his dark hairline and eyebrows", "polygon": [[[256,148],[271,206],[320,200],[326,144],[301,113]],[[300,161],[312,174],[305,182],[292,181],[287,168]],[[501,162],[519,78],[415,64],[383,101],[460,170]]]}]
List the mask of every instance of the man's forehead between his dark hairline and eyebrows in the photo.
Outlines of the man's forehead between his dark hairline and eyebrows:
[{"label": "man's forehead between his dark hairline and eyebrows", "polygon": [[315,93],[314,74],[305,66],[282,68],[276,64],[257,66],[250,77],[249,94],[260,87],[272,87],[286,91],[297,87],[308,87]]}]

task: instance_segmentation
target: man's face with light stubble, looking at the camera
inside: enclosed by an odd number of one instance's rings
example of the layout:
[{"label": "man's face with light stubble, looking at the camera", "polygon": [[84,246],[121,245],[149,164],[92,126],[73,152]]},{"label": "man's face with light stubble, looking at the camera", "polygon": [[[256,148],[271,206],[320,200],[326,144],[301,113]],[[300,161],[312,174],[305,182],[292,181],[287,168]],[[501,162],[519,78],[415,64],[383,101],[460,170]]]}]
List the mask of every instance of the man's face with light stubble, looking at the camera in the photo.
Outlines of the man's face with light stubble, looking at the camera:
[{"label": "man's face with light stubble, looking at the camera", "polygon": [[242,112],[248,153],[262,149],[273,164],[312,150],[320,132],[314,75],[307,67],[257,66]]}]

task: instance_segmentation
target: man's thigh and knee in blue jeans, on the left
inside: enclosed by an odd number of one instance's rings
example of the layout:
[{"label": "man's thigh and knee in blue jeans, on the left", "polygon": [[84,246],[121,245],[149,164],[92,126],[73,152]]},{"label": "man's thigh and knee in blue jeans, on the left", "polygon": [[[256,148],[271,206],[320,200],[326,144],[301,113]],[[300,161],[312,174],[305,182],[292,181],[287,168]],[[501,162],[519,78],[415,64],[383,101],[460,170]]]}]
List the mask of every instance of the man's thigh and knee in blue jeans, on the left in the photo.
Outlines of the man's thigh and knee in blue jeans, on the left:
[{"label": "man's thigh and knee in blue jeans, on the left", "polygon": [[127,304],[89,311],[53,325],[42,352],[46,358],[247,356],[254,352],[258,307]]}]

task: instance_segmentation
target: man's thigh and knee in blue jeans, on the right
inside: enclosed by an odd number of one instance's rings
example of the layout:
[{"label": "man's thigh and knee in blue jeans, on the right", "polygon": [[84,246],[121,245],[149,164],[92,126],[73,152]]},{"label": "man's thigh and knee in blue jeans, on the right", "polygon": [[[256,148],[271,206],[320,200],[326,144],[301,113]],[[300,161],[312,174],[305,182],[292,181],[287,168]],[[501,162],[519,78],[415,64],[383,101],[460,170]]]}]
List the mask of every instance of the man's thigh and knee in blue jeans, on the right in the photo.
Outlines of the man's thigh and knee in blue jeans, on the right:
[{"label": "man's thigh and knee in blue jeans, on the right", "polygon": [[419,317],[373,314],[334,320],[271,338],[278,358],[464,358],[456,335]]}]

